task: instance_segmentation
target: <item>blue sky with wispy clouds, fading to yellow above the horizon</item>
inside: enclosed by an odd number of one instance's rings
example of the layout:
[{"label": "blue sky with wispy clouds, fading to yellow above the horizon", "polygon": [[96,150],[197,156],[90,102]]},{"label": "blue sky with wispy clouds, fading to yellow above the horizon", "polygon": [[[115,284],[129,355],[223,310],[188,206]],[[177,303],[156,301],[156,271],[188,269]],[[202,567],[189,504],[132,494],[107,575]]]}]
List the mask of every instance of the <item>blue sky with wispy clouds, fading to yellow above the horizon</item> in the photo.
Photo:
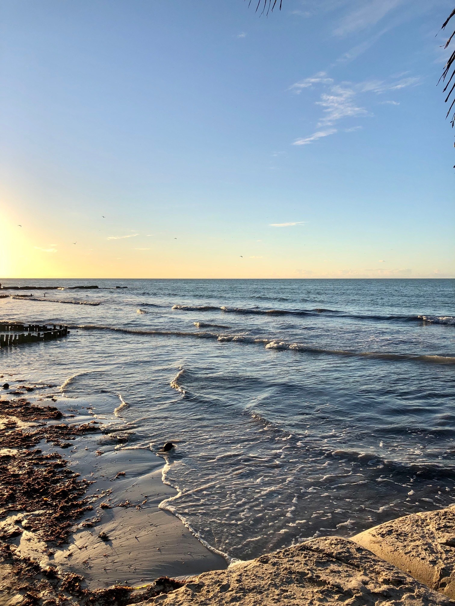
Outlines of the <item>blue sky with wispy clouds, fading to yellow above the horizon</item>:
[{"label": "blue sky with wispy clouds, fading to yellow above the horizon", "polygon": [[455,277],[453,0],[277,7],[0,0],[0,276]]}]

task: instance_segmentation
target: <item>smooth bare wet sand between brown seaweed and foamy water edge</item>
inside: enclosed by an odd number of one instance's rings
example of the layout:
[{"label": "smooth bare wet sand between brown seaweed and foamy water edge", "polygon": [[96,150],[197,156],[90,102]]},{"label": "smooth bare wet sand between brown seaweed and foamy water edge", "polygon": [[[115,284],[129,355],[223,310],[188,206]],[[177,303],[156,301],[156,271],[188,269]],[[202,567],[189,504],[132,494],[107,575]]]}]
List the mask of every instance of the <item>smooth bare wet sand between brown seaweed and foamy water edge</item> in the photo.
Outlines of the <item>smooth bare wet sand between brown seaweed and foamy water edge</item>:
[{"label": "smooth bare wet sand between brown seaweed and foamy water edge", "polygon": [[[79,524],[69,546],[54,554],[55,564],[83,574],[91,587],[116,582],[136,586],[159,576],[227,567],[224,558],[204,547],[178,518],[158,508],[177,491],[163,484],[163,460],[155,454],[117,450],[93,456],[90,450],[79,450],[69,460],[78,473],[95,480],[89,493],[112,490],[102,499],[112,508],[96,508],[100,520],[93,528]],[[125,475],[115,479],[118,473]],[[101,541],[100,532],[109,540]]]}]

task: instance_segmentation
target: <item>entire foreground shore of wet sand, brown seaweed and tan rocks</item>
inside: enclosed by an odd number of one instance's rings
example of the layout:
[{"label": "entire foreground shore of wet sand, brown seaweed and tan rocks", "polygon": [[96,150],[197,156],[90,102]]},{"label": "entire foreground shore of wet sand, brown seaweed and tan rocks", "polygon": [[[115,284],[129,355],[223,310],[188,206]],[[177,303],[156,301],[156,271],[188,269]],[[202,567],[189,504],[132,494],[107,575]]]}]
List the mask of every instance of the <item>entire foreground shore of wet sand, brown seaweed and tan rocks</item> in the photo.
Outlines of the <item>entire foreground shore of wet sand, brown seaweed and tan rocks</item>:
[{"label": "entire foreground shore of wet sand, brown seaweed and tan rocks", "polygon": [[0,399],[2,606],[454,604],[455,506],[228,567],[160,507],[178,496],[167,462],[116,448],[115,415],[39,388]]}]

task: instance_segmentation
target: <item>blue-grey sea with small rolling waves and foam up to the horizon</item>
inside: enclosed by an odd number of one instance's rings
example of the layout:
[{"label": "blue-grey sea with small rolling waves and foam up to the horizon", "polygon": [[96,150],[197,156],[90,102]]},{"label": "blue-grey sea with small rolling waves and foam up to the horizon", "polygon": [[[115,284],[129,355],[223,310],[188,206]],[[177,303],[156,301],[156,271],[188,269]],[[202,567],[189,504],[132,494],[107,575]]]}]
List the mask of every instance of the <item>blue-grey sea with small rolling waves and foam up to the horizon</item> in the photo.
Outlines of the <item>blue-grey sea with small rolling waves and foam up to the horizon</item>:
[{"label": "blue-grey sea with small rolling waves and foam up to the horizon", "polygon": [[175,442],[163,507],[230,558],[455,502],[453,280],[2,284],[99,286],[0,299],[73,327],[0,370],[117,407],[120,448]]}]

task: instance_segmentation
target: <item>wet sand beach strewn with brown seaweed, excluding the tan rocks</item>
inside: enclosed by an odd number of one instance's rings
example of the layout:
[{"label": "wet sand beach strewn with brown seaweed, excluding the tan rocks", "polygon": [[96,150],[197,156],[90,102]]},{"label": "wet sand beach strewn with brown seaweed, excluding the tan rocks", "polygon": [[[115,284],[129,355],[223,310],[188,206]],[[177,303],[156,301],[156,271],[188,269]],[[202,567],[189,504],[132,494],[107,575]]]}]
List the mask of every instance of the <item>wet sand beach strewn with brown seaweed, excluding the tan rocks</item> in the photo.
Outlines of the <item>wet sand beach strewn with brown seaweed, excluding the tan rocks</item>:
[{"label": "wet sand beach strewn with brown seaweed, excluding the tan rocks", "polygon": [[[96,591],[227,567],[159,508],[177,494],[163,484],[163,458],[146,448],[116,449],[116,436],[106,436],[113,420],[95,418],[87,402],[11,391],[16,394],[4,391],[0,400],[2,481],[15,493],[2,503],[1,604],[16,603],[27,589],[24,578],[36,585],[42,571],[79,579],[87,591]],[[27,490],[15,488],[25,464],[30,501]],[[15,576],[22,583],[16,595]]]}]

